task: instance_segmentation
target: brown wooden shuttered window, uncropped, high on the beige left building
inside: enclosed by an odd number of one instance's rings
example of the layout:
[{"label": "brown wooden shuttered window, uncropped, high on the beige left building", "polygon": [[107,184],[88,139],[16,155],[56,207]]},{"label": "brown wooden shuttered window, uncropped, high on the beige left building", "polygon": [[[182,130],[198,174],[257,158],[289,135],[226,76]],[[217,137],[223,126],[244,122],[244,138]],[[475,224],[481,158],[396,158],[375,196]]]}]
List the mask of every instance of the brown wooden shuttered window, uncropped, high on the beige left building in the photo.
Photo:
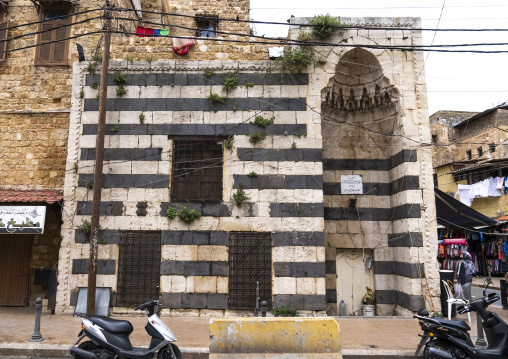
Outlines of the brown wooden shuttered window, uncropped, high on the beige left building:
[{"label": "brown wooden shuttered window, uncropped, high on the beige left building", "polygon": [[[67,65],[69,52],[69,40],[57,41],[69,37],[70,26],[61,27],[71,23],[69,15],[71,7],[68,5],[44,6],[41,11],[41,20],[44,20],[39,27],[43,31],[37,37],[37,43],[46,45],[38,46],[35,54],[35,65]],[[54,29],[54,30],[52,30]]]}]

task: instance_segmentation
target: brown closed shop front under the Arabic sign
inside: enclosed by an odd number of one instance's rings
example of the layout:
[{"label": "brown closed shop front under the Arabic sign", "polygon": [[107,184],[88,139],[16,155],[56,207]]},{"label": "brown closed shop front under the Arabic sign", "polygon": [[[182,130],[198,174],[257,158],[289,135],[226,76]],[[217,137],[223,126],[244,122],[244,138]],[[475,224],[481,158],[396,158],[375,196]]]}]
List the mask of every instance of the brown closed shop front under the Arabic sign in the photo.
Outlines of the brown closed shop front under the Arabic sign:
[{"label": "brown closed shop front under the Arabic sign", "polygon": [[0,306],[27,305],[32,235],[0,235]]}]

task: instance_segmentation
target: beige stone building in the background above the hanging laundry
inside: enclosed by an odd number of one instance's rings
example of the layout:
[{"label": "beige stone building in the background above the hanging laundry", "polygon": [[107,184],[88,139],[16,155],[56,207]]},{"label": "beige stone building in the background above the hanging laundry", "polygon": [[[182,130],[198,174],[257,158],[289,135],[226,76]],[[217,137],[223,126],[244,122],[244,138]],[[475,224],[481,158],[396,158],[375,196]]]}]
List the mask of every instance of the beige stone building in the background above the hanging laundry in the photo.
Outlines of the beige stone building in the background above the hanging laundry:
[{"label": "beige stone building in the background above the hanging laundry", "polygon": [[[454,196],[459,184],[507,177],[507,125],[506,104],[480,113],[439,111],[430,116],[436,186]],[[499,218],[508,214],[508,201],[503,195],[476,198],[471,208]]]}]

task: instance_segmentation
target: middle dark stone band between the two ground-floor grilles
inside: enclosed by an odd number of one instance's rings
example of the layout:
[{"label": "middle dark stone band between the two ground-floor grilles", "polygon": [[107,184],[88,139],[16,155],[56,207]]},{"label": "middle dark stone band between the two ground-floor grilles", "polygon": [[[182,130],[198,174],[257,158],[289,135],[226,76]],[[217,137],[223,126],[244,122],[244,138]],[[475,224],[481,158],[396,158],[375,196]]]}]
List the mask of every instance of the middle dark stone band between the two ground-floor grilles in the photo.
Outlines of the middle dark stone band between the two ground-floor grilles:
[{"label": "middle dark stone band between the two ground-floor grilles", "polygon": [[229,274],[228,262],[220,261],[163,261],[161,275],[224,276]]}]

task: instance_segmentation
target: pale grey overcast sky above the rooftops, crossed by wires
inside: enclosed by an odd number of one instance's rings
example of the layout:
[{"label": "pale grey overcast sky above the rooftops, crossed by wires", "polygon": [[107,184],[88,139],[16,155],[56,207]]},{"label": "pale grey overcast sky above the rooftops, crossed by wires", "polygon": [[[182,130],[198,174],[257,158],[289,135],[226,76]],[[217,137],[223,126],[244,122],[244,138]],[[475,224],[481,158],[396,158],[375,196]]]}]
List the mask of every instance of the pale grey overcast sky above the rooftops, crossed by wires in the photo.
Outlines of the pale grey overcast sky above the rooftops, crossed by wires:
[{"label": "pale grey overcast sky above the rooftops, crossed by wires", "polygon": [[[423,28],[436,28],[442,6],[443,0],[251,0],[251,17],[286,22],[291,15],[312,17],[328,12],[344,17],[408,16],[420,17]],[[507,14],[505,0],[446,0],[439,28],[508,28]],[[259,35],[287,35],[287,26],[255,26]],[[430,45],[433,36],[434,32],[423,32],[424,44]],[[508,43],[508,32],[438,32],[434,45],[485,42]],[[506,51],[508,45],[474,49]],[[508,101],[507,67],[508,54],[431,53],[425,69],[429,115],[439,110],[479,112]]]}]

